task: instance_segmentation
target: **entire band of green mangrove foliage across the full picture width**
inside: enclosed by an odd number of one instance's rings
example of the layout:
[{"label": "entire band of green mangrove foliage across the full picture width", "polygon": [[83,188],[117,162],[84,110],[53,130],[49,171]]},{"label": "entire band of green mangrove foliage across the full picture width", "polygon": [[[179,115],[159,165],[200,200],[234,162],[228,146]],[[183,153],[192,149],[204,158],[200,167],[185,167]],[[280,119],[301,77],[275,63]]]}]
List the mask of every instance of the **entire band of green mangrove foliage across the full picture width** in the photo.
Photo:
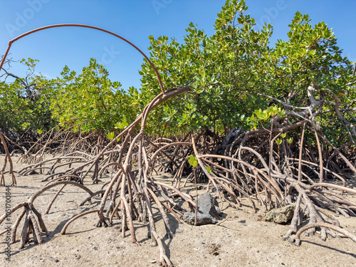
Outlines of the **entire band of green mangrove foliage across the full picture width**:
[{"label": "entire band of green mangrove foliage across the full picture width", "polygon": [[[313,26],[308,15],[296,12],[288,38],[270,46],[273,27],[266,24],[256,31],[255,20],[247,11],[245,1],[227,0],[217,14],[212,36],[194,23],[189,23],[182,43],[167,36],[149,36],[150,60],[159,70],[164,88],[192,85],[192,90],[152,110],[147,133],[162,135],[165,131],[169,135],[209,127],[219,134],[238,125],[246,130],[271,127],[273,118],[286,117],[276,99],[295,107],[308,106],[308,85],[313,82],[319,85],[315,98],[323,95],[328,100],[315,118],[324,135],[335,142],[344,140],[337,137],[348,138],[345,125],[335,120],[333,112],[323,113],[335,108],[336,95],[342,100],[340,108],[348,109],[342,114],[355,124],[350,113],[356,99],[352,63],[342,58],[333,30],[324,22]],[[61,78],[52,80],[33,75],[36,61],[31,58],[22,63],[31,75],[1,83],[3,129],[36,132],[76,118],[75,130],[117,132],[161,93],[155,71],[145,59],[141,90],[122,89],[94,59],[80,74],[66,66]],[[287,142],[293,142],[291,137]]]}]

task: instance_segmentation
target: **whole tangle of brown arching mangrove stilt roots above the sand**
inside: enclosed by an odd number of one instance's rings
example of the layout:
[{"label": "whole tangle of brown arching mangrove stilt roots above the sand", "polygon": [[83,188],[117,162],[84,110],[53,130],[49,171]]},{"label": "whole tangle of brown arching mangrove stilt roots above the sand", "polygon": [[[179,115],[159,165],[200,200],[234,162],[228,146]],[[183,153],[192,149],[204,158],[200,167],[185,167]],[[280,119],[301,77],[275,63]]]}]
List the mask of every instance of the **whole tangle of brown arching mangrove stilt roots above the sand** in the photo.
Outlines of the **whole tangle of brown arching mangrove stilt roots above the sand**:
[{"label": "whole tangle of brown arching mangrove stilt roots above the sand", "polygon": [[[328,143],[328,140],[308,127],[307,124],[311,120],[308,113],[300,113],[301,115],[296,116],[298,120],[294,119],[293,123],[288,120],[281,122],[278,117],[275,117],[270,129],[265,127],[250,131],[244,131],[241,127],[237,130],[233,129],[219,141],[216,136],[211,137],[208,130],[201,130],[195,135],[191,133],[184,136],[182,140],[174,137],[158,139],[147,137],[145,125],[150,111],[189,88],[189,86],[174,88],[167,90],[166,94],[157,95],[130,126],[106,144],[101,137],[94,142],[94,145],[90,145],[90,148],[85,143],[88,140],[83,138],[76,141],[73,139],[72,143],[68,143],[70,138],[69,133],[66,132],[66,135],[68,134],[66,144],[72,146],[67,154],[61,147],[61,156],[57,154],[51,159],[42,159],[44,150],[38,149],[36,157],[31,159],[31,165],[23,168],[20,173],[27,175],[47,171],[43,181],[48,184],[33,194],[27,202],[16,206],[16,209],[24,206],[13,225],[13,231],[16,232],[19,222],[23,217],[25,218],[21,246],[28,242],[30,232],[33,233],[35,242],[40,243],[42,240],[33,214],[37,216],[41,229],[45,229],[41,214],[36,213],[36,209],[33,208],[33,200],[47,189],[61,185],[61,189],[46,209],[48,213],[61,190],[67,185],[75,185],[89,194],[80,205],[98,195],[101,197],[100,205],[98,209],[85,211],[70,219],[63,227],[62,234],[66,234],[68,226],[76,219],[85,214],[97,213],[98,221],[95,226],[120,224],[122,238],[129,230],[132,243],[140,245],[137,242],[133,222],[146,221],[148,218],[150,224],[148,236],[152,239],[152,246],[159,248],[160,263],[164,266],[172,266],[164,251],[162,239],[157,234],[152,206],[155,205],[159,210],[166,227],[166,234],[172,238],[173,232],[169,226],[167,213],[170,212],[180,222],[179,216],[182,216],[182,213],[177,209],[177,199],[187,201],[190,209],[197,207],[194,199],[181,191],[188,182],[195,182],[193,179],[197,179],[197,182],[207,182],[206,191],[212,192],[215,189],[215,194],[221,199],[221,203],[225,200],[225,203],[235,208],[241,206],[239,198],[246,197],[251,208],[255,212],[260,212],[262,216],[271,209],[295,203],[290,230],[283,237],[285,240],[295,241],[295,244],[300,244],[299,238],[303,231],[306,231],[307,235],[314,234],[315,227],[321,227],[323,240],[328,236],[336,236],[330,229],[337,229],[335,231],[343,231],[340,233],[355,241],[355,237],[350,233],[345,234],[345,231],[340,228],[339,221],[330,215],[330,211],[344,216],[356,214],[356,204],[348,198],[350,194],[356,195],[356,191],[346,187],[345,178],[333,167],[343,164],[345,168],[350,168],[351,163],[341,156],[341,148],[333,147],[333,151],[325,151],[327,147],[322,147],[319,139],[321,138],[325,143]],[[318,147],[310,148],[305,144],[306,141],[303,142],[304,140],[300,140],[298,145],[293,145],[284,139],[278,143],[278,147],[273,145],[282,133],[295,135],[295,139],[298,139],[299,136],[294,132],[299,133],[299,130],[305,138],[307,135],[313,138],[315,136]],[[114,145],[117,138],[121,137],[120,145]],[[188,138],[192,138],[192,142],[187,142]],[[46,144],[50,142],[47,140]],[[74,148],[80,145],[83,150],[74,151]],[[35,149],[36,146],[33,147],[33,150]],[[329,165],[323,161],[323,155],[326,154],[333,155],[328,157]],[[192,168],[187,164],[189,155],[197,158],[199,166],[194,169],[196,175],[191,174]],[[27,156],[23,160],[29,161],[30,157]],[[66,171],[59,172],[58,167],[65,167]],[[152,173],[159,170],[173,172],[172,181],[160,182],[152,177]],[[184,176],[186,176],[185,181],[182,178]],[[108,179],[108,181],[103,182],[98,192],[91,192],[83,185],[88,177],[93,183],[102,182],[101,179]],[[330,182],[331,178],[340,180],[342,186]],[[326,224],[325,218],[330,219],[332,224]],[[1,216],[0,223],[1,219],[4,217]],[[305,219],[307,224],[300,228],[305,223]]]}]

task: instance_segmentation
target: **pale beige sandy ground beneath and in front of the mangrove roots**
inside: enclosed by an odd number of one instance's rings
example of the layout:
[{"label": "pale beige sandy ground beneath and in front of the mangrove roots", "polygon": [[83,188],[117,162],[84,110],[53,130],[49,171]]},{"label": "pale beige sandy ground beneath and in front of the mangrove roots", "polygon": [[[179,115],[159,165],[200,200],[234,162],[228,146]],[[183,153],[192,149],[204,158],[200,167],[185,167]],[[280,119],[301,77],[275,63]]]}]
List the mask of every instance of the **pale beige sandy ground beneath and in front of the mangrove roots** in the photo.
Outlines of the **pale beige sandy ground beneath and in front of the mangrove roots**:
[{"label": "pale beige sandy ground beneath and in front of the mangrove roots", "polygon": [[[13,160],[16,162],[16,157]],[[0,167],[3,162],[4,156],[1,156]],[[15,164],[15,170],[22,167],[21,164]],[[10,184],[9,174],[5,177],[6,184]],[[43,174],[16,175],[18,185],[10,188],[11,206],[26,201],[33,192],[43,187],[43,177]],[[100,184],[90,184],[89,180],[85,181],[85,185],[92,191],[100,187]],[[5,189],[0,187],[0,216],[5,212]],[[142,246],[131,243],[130,231],[122,239],[117,219],[112,227],[95,228],[96,214],[88,214],[74,221],[68,227],[67,234],[61,235],[61,229],[67,221],[98,206],[99,201],[78,206],[88,193],[67,186],[54,202],[50,213],[44,214],[57,190],[50,189],[34,201],[49,231],[49,236],[43,235],[44,243],[35,246],[31,242],[19,249],[20,225],[16,243],[11,245],[11,261],[6,261],[5,235],[0,236],[0,266],[158,266],[159,251],[157,247],[150,246],[151,241],[147,239],[148,224],[135,221],[137,241]],[[194,195],[194,191],[190,193]],[[173,239],[164,237],[164,225],[159,220],[157,231],[163,238],[167,256],[174,266],[356,266],[356,244],[350,239],[330,238],[321,241],[318,234],[303,234],[302,245],[296,247],[288,241],[282,241],[282,236],[289,229],[288,225],[259,221],[258,214],[253,212],[248,201],[242,199],[241,203],[241,209],[224,204],[221,221],[226,217],[229,219],[220,226],[179,224],[169,214],[169,222],[175,231]],[[156,219],[159,219],[157,209],[155,212]],[[11,215],[11,223],[16,221],[18,214],[19,211]],[[338,216],[337,219],[347,231],[356,233],[355,217],[347,219]],[[3,223],[0,232],[4,229]]]}]

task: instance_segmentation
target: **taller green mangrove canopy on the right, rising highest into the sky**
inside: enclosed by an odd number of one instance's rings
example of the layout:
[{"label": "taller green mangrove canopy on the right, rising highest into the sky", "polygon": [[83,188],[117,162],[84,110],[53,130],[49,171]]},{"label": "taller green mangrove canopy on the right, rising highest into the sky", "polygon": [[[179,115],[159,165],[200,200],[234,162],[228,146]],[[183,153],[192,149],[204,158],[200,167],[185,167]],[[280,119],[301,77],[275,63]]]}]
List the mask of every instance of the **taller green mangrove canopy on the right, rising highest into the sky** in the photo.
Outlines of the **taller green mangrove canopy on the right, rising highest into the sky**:
[{"label": "taller green mangrove canopy on the right, rising highest into the sky", "polygon": [[[297,12],[288,39],[278,40],[273,47],[269,46],[273,27],[268,24],[256,31],[247,10],[244,1],[226,1],[217,14],[213,36],[189,23],[183,43],[169,41],[167,36],[149,37],[150,60],[157,66],[164,88],[188,84],[193,88],[152,112],[150,120],[157,125],[154,132],[162,132],[162,125],[168,125],[170,132],[258,127],[256,120],[286,116],[281,103],[258,93],[303,107],[309,105],[311,82],[342,98],[352,95],[355,99],[355,90],[347,91],[352,63],[342,58],[332,29],[324,22],[312,26],[308,15]],[[147,61],[140,74],[142,94],[154,98],[159,84]],[[333,102],[331,94],[325,97]],[[327,109],[330,107],[325,105]],[[324,117],[321,122],[326,123]]]}]

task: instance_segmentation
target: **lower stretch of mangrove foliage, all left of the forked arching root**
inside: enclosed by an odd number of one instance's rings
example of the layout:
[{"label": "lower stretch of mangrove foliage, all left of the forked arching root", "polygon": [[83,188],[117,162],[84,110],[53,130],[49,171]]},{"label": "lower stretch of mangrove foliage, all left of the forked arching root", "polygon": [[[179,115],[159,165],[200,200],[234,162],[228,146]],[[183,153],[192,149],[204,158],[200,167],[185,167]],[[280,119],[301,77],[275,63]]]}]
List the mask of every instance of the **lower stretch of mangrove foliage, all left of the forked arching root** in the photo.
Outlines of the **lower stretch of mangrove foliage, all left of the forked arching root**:
[{"label": "lower stretch of mangrove foliage, all left of the forked arching root", "polygon": [[120,83],[111,82],[108,70],[94,59],[79,75],[65,66],[61,78],[51,80],[33,75],[36,62],[31,58],[21,61],[31,74],[13,83],[0,84],[3,130],[33,130],[41,135],[39,129],[46,131],[59,122],[73,119],[78,124],[74,130],[82,132],[122,130],[146,104],[136,88],[126,92]]}]

